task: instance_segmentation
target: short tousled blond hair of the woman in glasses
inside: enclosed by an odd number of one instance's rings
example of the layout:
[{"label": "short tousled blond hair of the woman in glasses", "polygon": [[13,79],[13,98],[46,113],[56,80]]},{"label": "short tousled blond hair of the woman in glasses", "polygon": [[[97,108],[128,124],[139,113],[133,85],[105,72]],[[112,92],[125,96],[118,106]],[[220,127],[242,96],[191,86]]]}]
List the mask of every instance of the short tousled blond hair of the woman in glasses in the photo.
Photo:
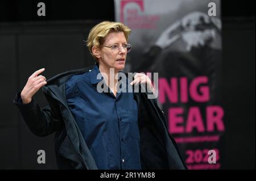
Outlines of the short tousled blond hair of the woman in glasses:
[{"label": "short tousled blond hair of the woman in glasses", "polygon": [[128,41],[131,29],[120,22],[101,22],[96,24],[96,26],[90,30],[88,39],[86,41],[90,54],[92,54],[96,60],[97,58],[93,55],[92,47],[100,47],[100,45],[104,43],[104,38],[110,32],[123,32],[125,34],[126,41]]}]

